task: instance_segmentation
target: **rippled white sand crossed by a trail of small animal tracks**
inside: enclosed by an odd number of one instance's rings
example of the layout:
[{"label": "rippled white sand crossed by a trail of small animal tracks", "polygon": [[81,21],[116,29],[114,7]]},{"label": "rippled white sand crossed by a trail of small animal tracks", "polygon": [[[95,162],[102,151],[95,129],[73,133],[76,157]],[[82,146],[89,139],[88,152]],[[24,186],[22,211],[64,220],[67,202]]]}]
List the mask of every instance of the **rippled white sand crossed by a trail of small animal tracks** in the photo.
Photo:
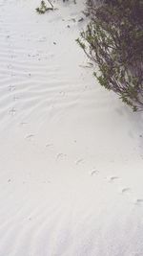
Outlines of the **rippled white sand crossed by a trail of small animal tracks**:
[{"label": "rippled white sand crossed by a trail of small animal tracks", "polygon": [[83,4],[39,2],[0,2],[0,256],[142,256],[142,116],[83,67]]}]

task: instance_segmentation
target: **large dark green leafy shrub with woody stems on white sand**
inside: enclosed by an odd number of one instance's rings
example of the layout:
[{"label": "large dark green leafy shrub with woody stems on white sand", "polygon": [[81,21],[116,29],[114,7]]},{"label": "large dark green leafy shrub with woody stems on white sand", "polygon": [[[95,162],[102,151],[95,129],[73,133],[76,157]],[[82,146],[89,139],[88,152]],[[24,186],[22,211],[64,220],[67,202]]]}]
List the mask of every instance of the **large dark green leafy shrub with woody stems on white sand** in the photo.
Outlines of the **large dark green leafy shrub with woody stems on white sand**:
[{"label": "large dark green leafy shrub with woody stems on white sand", "polygon": [[77,39],[96,62],[99,83],[133,110],[143,110],[143,1],[105,0],[90,6],[92,21]]}]

